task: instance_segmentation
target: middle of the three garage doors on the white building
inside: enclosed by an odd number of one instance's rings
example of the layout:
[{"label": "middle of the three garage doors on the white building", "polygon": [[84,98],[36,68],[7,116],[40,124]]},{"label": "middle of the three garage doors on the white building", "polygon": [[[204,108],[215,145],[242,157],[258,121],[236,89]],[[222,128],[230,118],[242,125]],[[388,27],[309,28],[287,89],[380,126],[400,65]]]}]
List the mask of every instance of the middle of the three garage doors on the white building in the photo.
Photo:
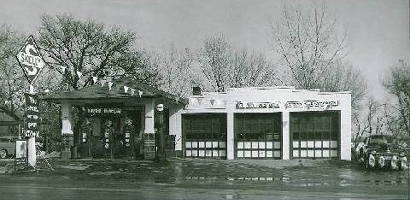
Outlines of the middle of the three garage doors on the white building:
[{"label": "middle of the three garage doors on the white building", "polygon": [[234,115],[236,158],[281,158],[280,113]]}]

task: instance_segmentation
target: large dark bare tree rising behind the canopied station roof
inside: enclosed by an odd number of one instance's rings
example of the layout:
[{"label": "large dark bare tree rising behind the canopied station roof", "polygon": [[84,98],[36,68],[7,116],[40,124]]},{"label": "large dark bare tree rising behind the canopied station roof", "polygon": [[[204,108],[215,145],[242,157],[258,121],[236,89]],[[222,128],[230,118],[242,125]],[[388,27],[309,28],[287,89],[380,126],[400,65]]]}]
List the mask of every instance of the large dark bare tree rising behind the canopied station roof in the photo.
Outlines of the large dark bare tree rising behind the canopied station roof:
[{"label": "large dark bare tree rising behind the canopied station roof", "polygon": [[149,73],[140,70],[148,59],[133,50],[135,39],[132,32],[107,28],[93,20],[81,21],[69,15],[41,17],[40,46],[49,66],[63,78],[66,89],[87,86],[93,76],[115,79]]}]

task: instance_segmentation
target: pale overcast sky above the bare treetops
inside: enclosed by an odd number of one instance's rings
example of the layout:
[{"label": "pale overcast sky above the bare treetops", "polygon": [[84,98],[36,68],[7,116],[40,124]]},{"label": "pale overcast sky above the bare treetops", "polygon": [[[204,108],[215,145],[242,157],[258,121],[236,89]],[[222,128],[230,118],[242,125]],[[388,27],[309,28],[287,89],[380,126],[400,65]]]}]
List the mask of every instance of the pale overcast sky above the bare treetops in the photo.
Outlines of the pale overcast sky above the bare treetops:
[{"label": "pale overcast sky above the bare treetops", "polygon": [[[272,53],[269,23],[284,1],[273,0],[0,0],[0,23],[33,33],[40,15],[70,13],[136,32],[151,50],[198,48],[223,33],[237,47]],[[327,0],[331,17],[348,32],[346,59],[360,68],[377,99],[386,68],[410,56],[409,0]],[[312,1],[297,2],[308,6]]]}]

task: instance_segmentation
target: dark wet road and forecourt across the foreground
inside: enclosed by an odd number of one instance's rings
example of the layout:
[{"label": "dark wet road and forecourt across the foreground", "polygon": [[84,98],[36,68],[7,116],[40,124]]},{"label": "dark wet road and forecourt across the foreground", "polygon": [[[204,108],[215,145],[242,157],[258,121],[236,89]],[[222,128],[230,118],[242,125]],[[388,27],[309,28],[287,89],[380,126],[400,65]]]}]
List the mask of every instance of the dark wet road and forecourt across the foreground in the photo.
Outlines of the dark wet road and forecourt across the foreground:
[{"label": "dark wet road and forecourt across the foreground", "polygon": [[0,200],[407,199],[407,171],[368,172],[340,161],[287,168],[258,162],[55,161],[53,172],[0,175]]}]

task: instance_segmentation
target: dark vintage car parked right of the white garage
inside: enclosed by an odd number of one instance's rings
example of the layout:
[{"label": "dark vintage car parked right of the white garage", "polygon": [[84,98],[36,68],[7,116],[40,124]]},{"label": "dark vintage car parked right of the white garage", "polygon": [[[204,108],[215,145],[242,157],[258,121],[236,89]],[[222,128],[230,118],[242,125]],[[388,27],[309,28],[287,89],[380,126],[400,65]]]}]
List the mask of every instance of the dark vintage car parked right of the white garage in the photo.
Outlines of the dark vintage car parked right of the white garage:
[{"label": "dark vintage car parked right of the white garage", "polygon": [[367,169],[407,169],[405,149],[389,135],[367,137],[359,150],[359,161]]}]

